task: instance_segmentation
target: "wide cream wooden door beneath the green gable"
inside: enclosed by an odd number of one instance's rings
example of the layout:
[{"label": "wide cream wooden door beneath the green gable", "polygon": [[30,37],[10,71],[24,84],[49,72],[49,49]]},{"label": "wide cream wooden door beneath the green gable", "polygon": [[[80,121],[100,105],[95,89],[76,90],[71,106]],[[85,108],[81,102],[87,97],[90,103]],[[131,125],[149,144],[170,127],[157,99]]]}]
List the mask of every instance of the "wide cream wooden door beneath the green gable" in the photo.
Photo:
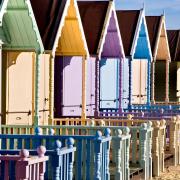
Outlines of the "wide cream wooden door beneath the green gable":
[{"label": "wide cream wooden door beneath the green gable", "polygon": [[33,63],[32,53],[21,53],[17,58],[8,53],[7,124],[32,123]]}]

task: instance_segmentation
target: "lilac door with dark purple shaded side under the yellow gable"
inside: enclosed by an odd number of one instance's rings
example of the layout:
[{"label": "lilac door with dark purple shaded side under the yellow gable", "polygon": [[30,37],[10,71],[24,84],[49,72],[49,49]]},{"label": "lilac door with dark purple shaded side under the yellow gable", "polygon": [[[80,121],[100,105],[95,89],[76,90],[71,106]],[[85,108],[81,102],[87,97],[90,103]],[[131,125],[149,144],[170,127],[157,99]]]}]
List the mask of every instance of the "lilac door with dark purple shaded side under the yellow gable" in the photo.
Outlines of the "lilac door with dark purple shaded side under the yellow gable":
[{"label": "lilac door with dark purple shaded side under the yellow gable", "polygon": [[80,116],[82,57],[56,57],[54,81],[55,118]]}]

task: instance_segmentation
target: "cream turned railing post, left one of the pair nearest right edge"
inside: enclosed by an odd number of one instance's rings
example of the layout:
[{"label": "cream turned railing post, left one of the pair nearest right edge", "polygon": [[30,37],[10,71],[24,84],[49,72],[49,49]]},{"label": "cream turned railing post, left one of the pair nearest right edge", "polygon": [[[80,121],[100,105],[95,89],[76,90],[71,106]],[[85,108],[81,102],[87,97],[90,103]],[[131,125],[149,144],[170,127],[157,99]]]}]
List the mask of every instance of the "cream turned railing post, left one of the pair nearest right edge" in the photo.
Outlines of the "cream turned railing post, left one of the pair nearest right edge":
[{"label": "cream turned railing post, left one of the pair nearest right edge", "polygon": [[173,163],[174,166],[177,165],[177,146],[176,144],[178,143],[177,139],[177,124],[176,124],[176,117],[172,117],[170,124],[169,124],[169,129],[170,129],[170,137],[169,137],[169,146],[170,146],[170,152],[173,154]]}]

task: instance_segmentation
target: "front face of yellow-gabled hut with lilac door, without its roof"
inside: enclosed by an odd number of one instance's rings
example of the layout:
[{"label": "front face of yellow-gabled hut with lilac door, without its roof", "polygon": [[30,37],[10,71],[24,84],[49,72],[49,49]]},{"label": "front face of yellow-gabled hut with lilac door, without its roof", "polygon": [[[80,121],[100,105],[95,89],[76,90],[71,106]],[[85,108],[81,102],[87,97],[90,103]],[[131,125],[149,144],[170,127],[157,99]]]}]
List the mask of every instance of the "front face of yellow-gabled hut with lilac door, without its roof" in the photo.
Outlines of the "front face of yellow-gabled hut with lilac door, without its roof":
[{"label": "front face of yellow-gabled hut with lilac door, without its roof", "polygon": [[54,117],[86,116],[86,67],[89,53],[76,1],[68,6],[55,49]]}]

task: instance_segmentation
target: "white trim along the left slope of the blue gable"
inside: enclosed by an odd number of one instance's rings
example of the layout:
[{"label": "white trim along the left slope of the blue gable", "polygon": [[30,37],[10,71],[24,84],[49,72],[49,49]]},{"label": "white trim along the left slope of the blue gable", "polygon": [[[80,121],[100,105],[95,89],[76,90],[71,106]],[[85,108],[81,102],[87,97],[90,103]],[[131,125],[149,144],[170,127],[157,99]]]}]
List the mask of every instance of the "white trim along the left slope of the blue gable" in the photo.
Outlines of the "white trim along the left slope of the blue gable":
[{"label": "white trim along the left slope of the blue gable", "polygon": [[142,24],[142,15],[143,15],[143,9],[140,10],[140,14],[139,14],[139,18],[138,18],[138,22],[137,22],[137,26],[136,26],[136,31],[134,34],[134,38],[133,38],[133,43],[131,46],[131,51],[130,51],[130,55],[134,58],[134,53],[136,50],[136,46],[137,46],[137,41],[138,41],[138,37],[139,37],[139,32],[140,32],[140,28],[141,28],[141,24]]}]

